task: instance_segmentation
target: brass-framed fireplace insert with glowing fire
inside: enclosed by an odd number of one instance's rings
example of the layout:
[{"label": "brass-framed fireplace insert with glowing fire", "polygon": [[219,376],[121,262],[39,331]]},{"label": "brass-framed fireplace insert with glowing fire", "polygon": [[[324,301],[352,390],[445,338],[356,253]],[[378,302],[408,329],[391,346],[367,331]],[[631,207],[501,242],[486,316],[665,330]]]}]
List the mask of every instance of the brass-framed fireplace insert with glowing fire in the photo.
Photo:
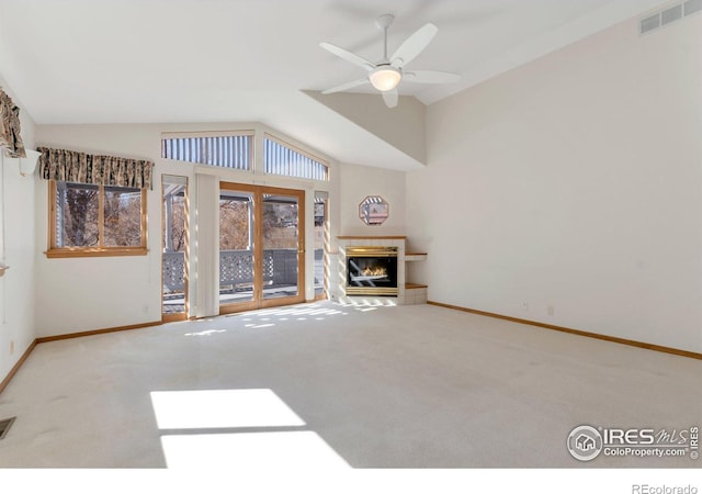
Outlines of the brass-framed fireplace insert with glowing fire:
[{"label": "brass-framed fireplace insert with glowing fire", "polygon": [[397,247],[347,247],[348,295],[397,295]]}]

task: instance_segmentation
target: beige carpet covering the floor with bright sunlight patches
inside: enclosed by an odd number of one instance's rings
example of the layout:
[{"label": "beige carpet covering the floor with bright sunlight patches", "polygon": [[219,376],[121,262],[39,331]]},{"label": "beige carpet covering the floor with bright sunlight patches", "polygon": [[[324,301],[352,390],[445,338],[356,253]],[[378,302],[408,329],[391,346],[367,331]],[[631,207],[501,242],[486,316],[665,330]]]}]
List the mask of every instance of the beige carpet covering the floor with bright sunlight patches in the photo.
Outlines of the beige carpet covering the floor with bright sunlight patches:
[{"label": "beige carpet covering the floor with bright sunlight patches", "polygon": [[570,430],[701,425],[702,361],[430,305],[332,302],[38,345],[2,468],[689,468]]}]

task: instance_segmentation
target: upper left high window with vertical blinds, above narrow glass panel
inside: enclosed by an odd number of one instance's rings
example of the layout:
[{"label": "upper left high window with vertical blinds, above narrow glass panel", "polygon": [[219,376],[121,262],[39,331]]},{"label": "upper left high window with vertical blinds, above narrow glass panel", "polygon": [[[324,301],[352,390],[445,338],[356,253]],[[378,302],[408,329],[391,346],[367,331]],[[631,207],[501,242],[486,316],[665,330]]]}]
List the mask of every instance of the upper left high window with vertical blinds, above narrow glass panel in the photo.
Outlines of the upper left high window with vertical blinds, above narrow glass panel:
[{"label": "upper left high window with vertical blinds, above narrow glass panel", "polygon": [[161,157],[236,170],[251,170],[252,141],[253,136],[249,133],[206,136],[163,134]]}]

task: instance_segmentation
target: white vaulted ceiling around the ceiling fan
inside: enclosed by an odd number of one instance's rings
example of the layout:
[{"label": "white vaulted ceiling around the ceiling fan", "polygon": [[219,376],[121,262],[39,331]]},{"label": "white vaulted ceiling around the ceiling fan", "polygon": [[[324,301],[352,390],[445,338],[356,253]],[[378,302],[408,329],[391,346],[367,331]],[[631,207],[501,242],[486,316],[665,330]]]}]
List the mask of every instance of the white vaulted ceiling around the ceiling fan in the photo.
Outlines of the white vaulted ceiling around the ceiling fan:
[{"label": "white vaulted ceiling around the ceiling fan", "polygon": [[[396,16],[390,53],[434,23],[438,35],[411,67],[462,78],[400,83],[400,94],[429,105],[659,3],[0,0],[0,76],[37,124],[262,122],[339,161],[412,169],[421,158],[310,98],[364,75],[320,42],[375,61],[377,15]],[[358,91],[381,106],[373,111],[394,111],[370,87]]]}]

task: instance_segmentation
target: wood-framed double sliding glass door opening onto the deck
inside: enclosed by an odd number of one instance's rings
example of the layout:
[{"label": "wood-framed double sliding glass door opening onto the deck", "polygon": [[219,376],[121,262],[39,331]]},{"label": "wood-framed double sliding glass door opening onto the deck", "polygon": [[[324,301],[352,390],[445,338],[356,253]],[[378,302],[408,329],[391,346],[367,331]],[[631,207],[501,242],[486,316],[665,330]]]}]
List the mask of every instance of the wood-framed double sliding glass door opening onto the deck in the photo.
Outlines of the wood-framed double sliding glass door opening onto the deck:
[{"label": "wood-framed double sliding glass door opening onto the deck", "polygon": [[219,312],[304,302],[305,192],[222,182]]}]

